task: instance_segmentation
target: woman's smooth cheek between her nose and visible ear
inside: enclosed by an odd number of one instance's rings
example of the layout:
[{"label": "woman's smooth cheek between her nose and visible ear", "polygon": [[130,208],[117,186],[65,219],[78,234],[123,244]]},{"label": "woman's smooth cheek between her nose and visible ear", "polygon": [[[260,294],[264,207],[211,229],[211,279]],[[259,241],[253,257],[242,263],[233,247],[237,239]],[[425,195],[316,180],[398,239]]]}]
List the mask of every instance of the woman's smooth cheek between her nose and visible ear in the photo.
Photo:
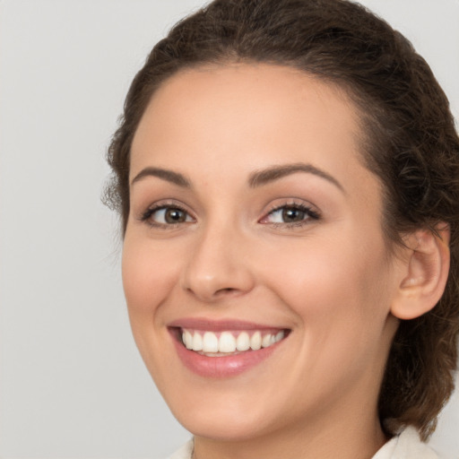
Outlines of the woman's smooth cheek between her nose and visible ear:
[{"label": "woman's smooth cheek between her nose and visible ear", "polygon": [[384,241],[355,229],[340,234],[283,247],[264,270],[266,283],[305,327],[327,333],[333,326],[342,333],[383,327],[391,299]]}]

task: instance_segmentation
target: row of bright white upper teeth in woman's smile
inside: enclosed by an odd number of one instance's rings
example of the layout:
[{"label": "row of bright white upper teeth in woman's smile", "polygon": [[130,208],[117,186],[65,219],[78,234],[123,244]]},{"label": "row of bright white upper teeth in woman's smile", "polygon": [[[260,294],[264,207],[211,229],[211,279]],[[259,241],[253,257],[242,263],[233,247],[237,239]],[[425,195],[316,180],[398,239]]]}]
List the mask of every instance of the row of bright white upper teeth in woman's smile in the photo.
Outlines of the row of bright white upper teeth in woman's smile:
[{"label": "row of bright white upper teeth in woman's smile", "polygon": [[[219,335],[218,335],[219,334]],[[184,330],[182,340],[186,349],[203,352],[235,352],[247,351],[252,349],[258,351],[261,348],[267,348],[279,342],[284,337],[284,332],[264,333],[256,331],[250,335],[249,332],[240,332],[237,335],[234,332],[201,332]]]}]

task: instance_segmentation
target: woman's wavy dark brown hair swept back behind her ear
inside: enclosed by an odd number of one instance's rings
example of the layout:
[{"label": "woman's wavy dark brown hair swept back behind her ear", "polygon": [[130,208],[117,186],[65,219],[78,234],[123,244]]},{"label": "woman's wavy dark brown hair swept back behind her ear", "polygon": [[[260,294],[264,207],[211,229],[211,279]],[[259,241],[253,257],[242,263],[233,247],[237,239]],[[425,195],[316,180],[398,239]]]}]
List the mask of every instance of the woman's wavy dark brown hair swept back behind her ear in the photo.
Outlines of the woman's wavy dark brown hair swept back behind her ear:
[{"label": "woman's wavy dark brown hair swept back behind her ear", "polygon": [[446,291],[429,313],[401,322],[379,398],[386,429],[411,424],[429,437],[454,389],[459,333],[459,139],[444,92],[411,43],[358,4],[215,0],[152,49],[127,94],[108,150],[114,175],[106,190],[123,230],[130,147],[153,92],[179,70],[225,62],[290,65],[341,85],[360,109],[363,157],[385,189],[388,240],[449,225]]}]

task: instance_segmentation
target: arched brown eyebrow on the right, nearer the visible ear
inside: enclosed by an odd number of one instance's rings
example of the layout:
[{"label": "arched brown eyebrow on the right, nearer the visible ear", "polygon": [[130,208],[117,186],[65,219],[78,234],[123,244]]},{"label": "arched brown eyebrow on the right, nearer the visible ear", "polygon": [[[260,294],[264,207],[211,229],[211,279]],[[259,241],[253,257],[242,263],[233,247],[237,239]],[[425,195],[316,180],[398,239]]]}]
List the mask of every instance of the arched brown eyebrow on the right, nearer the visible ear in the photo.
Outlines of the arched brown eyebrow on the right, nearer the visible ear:
[{"label": "arched brown eyebrow on the right, nearer the visible ear", "polygon": [[250,175],[250,178],[248,179],[248,185],[251,188],[264,186],[270,182],[290,176],[297,172],[306,172],[307,174],[314,174],[317,177],[325,178],[325,180],[332,183],[334,186],[337,186],[343,193],[345,192],[341,183],[336,180],[336,178],[325,172],[325,170],[318,169],[316,166],[313,166],[312,164],[306,164],[304,162],[284,164],[280,166],[273,166],[268,169],[257,170]]}]

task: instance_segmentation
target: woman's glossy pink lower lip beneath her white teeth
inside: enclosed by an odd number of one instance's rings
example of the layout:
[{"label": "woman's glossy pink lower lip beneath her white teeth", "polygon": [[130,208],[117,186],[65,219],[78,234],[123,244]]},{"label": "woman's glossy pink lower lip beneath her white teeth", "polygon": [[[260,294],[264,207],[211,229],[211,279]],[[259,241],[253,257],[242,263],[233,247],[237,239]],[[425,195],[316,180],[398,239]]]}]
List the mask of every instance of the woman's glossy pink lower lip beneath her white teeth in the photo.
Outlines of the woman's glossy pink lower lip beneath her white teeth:
[{"label": "woman's glossy pink lower lip beneath her white teeth", "polygon": [[283,340],[259,351],[244,351],[225,357],[207,357],[195,351],[189,351],[175,337],[173,341],[178,357],[186,368],[201,377],[225,378],[236,377],[268,359]]}]

